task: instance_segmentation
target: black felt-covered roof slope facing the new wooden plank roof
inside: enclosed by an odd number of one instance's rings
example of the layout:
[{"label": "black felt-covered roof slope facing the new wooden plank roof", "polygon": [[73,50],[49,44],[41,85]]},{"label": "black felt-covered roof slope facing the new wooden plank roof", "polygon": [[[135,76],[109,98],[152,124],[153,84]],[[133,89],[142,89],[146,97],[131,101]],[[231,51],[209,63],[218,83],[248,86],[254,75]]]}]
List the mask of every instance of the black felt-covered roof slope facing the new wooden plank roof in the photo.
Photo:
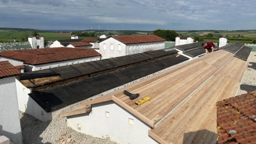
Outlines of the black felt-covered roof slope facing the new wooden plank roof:
[{"label": "black felt-covered roof slope facing the new wooden plank roof", "polygon": [[170,55],[156,61],[149,61],[99,76],[38,90],[29,93],[29,96],[45,111],[51,112],[186,60],[188,58],[185,56]]}]

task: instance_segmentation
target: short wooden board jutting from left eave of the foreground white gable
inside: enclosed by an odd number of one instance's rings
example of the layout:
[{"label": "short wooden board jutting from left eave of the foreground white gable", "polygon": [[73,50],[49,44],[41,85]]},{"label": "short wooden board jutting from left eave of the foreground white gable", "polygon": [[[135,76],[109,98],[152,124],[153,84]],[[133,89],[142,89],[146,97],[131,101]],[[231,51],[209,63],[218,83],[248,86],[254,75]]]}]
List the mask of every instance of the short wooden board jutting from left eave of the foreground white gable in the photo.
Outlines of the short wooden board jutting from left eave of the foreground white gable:
[{"label": "short wooden board jutting from left eave of the foreground white gable", "polygon": [[91,106],[81,106],[79,108],[73,109],[71,111],[68,111],[66,113],[61,113],[60,115],[58,115],[59,118],[62,117],[67,117],[67,116],[72,116],[72,115],[80,115],[83,113],[87,113],[89,111],[92,111]]}]

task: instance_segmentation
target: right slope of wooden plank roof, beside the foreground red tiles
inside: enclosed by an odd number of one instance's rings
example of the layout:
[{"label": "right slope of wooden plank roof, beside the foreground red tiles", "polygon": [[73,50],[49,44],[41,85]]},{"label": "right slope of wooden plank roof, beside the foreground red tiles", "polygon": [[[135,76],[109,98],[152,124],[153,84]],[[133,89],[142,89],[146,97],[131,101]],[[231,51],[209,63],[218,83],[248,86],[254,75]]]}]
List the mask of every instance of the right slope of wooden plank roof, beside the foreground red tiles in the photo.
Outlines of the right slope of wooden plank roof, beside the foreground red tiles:
[{"label": "right slope of wooden plank roof, beside the foreground red tiles", "polygon": [[167,143],[216,143],[216,102],[234,97],[247,65],[232,58],[152,132]]}]

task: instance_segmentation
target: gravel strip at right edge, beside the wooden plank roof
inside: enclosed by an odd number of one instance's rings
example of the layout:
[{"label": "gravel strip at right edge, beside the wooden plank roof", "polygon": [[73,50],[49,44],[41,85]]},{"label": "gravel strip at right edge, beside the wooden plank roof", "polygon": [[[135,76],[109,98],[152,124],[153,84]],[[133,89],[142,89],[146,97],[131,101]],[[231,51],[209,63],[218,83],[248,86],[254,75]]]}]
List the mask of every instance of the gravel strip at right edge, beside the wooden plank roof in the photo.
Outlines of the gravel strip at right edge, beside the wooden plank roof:
[{"label": "gravel strip at right edge, beside the wooden plank roof", "polygon": [[248,60],[249,65],[246,68],[243,80],[241,81],[237,95],[256,90],[256,52],[252,51]]}]

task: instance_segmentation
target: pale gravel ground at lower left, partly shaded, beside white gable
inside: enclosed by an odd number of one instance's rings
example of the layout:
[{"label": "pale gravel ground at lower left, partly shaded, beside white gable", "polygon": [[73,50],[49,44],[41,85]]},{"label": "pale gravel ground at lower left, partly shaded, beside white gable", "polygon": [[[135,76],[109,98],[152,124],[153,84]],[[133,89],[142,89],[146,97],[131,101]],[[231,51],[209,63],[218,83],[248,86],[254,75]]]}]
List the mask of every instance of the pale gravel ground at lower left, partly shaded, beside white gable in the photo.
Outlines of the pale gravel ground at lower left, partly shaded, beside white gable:
[{"label": "pale gravel ground at lower left, partly shaded, beside white gable", "polygon": [[[81,106],[81,102],[65,108],[62,112],[70,111],[71,109],[77,108],[79,106]],[[72,140],[75,141],[73,144],[117,144],[116,142],[110,141],[109,139],[96,138],[81,132],[74,131],[70,127],[67,127],[66,121],[66,117],[56,117],[52,121],[42,122],[37,118],[20,111],[20,125],[23,143],[57,143],[55,140],[61,137],[61,133],[67,132],[67,135],[63,136],[63,140],[67,140],[68,134],[71,134]]]}]

